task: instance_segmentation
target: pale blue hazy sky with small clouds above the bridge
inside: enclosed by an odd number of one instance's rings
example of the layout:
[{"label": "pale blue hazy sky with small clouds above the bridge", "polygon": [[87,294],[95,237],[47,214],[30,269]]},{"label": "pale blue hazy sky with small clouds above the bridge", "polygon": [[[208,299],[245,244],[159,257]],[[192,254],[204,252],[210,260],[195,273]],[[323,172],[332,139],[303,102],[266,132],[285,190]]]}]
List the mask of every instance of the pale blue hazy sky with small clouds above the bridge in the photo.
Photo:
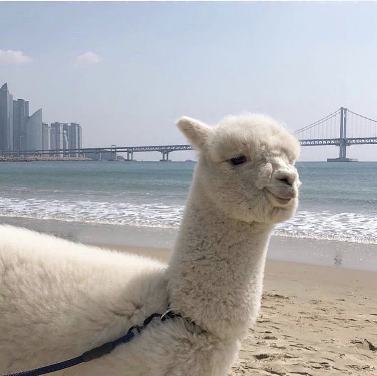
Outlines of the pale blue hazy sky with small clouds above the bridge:
[{"label": "pale blue hazy sky with small clouds above the bridge", "polygon": [[[291,130],[341,106],[377,119],[376,14],[377,2],[0,2],[0,85],[46,123],[80,123],[83,147],[186,144],[182,115],[263,113]],[[303,147],[300,160],[338,154]],[[377,145],[347,156],[377,160]]]}]

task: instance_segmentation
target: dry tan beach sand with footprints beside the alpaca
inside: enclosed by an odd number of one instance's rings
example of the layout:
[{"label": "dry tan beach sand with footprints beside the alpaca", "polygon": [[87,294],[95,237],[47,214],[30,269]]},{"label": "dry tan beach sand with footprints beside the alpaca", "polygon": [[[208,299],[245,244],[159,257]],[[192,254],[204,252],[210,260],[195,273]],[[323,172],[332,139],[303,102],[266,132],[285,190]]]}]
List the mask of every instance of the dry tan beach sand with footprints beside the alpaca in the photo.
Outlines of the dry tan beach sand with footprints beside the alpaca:
[{"label": "dry tan beach sand with footprints beside the alpaca", "polygon": [[260,316],[231,375],[343,374],[377,376],[377,273],[268,260]]}]

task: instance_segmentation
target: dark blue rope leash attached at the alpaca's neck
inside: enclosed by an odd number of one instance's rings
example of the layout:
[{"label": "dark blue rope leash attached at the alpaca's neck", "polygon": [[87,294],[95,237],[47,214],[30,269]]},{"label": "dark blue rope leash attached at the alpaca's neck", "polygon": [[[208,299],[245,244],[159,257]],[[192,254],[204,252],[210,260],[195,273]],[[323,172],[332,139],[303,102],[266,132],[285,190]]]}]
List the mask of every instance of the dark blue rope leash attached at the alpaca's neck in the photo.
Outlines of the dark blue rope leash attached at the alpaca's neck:
[{"label": "dark blue rope leash attached at the alpaca's neck", "polygon": [[60,363],[55,363],[51,365],[46,365],[45,367],[41,368],[36,368],[36,369],[31,369],[29,371],[24,371],[24,372],[17,372],[17,373],[10,373],[10,374],[5,374],[3,376],[39,376],[41,374],[46,374],[46,373],[51,373],[51,372],[56,372],[61,369],[73,367],[74,365],[80,364],[80,363],[87,363],[90,360],[100,358],[103,355],[108,354],[109,352],[112,352],[116,346],[118,346],[121,343],[127,343],[130,342],[134,337],[135,333],[133,332],[135,329],[137,330],[138,333],[140,333],[143,329],[146,328],[146,326],[155,318],[158,317],[161,319],[161,321],[165,321],[166,319],[171,319],[173,317],[176,317],[180,315],[174,314],[171,312],[169,309],[163,313],[153,313],[149,317],[147,317],[142,326],[139,325],[134,325],[131,326],[130,329],[128,329],[127,334],[124,336],[110,342],[106,342],[101,346],[95,347],[89,351],[84,352],[82,355],[77,356],[76,358],[69,359],[62,361]]}]

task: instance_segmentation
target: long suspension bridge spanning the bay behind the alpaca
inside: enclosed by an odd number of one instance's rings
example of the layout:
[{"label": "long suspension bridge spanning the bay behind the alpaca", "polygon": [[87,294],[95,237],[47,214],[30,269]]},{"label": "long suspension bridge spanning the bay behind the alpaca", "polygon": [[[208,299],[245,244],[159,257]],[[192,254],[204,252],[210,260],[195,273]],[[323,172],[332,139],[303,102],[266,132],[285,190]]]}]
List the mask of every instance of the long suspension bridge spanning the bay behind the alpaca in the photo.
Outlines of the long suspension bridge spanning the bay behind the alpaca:
[{"label": "long suspension bridge spanning the bay behind the alpaca", "polygon": [[[377,120],[357,114],[345,107],[294,131],[302,146],[337,146],[338,158],[328,158],[328,162],[350,162],[357,159],[347,158],[347,147],[351,145],[377,144]],[[191,145],[158,146],[116,146],[54,149],[0,151],[1,156],[84,156],[95,160],[115,160],[118,153],[126,153],[126,161],[133,161],[136,152],[157,151],[162,154],[161,162],[169,161],[173,151],[193,150]]]}]

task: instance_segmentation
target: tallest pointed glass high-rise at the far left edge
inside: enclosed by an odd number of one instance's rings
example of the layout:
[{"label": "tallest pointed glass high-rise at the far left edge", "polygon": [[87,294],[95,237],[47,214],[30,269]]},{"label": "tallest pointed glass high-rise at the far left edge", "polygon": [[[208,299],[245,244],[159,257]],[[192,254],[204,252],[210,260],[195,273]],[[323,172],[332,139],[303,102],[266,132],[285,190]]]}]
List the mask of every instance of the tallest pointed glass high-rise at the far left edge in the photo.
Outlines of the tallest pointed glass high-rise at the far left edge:
[{"label": "tallest pointed glass high-rise at the far left edge", "polygon": [[0,88],[0,150],[13,150],[13,96],[7,83]]}]

